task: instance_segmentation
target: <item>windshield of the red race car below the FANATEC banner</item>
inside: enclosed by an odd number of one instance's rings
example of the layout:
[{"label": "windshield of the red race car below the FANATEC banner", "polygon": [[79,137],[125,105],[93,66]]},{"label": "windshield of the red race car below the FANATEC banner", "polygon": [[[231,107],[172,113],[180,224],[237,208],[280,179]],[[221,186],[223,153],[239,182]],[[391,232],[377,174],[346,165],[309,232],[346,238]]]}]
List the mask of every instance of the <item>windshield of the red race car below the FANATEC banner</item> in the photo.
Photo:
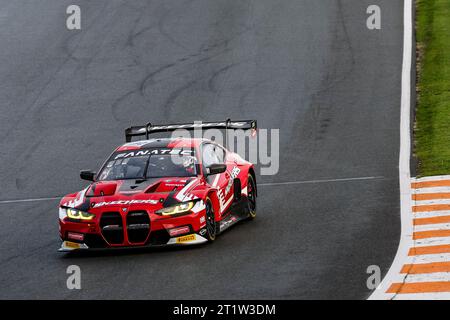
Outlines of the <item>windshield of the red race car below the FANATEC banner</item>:
[{"label": "windshield of the red race car below the FANATEC banner", "polygon": [[197,175],[196,159],[187,155],[145,155],[106,163],[99,180],[191,177]]}]

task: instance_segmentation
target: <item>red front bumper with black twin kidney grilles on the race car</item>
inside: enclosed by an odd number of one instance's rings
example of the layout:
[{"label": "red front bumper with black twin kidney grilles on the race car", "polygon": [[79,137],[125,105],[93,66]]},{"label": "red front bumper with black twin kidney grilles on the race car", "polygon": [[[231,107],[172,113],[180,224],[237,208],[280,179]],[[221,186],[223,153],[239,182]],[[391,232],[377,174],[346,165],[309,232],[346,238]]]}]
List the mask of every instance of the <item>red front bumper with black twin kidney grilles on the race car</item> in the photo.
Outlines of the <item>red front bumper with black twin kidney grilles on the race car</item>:
[{"label": "red front bumper with black twin kidney grilles on the race car", "polygon": [[[134,213],[139,215],[130,218]],[[130,212],[117,210],[97,214],[97,218],[89,222],[59,220],[59,226],[62,244],[58,251],[61,252],[193,245],[207,242],[204,237],[206,233],[204,210],[178,217],[161,217],[148,214],[144,210]]]}]

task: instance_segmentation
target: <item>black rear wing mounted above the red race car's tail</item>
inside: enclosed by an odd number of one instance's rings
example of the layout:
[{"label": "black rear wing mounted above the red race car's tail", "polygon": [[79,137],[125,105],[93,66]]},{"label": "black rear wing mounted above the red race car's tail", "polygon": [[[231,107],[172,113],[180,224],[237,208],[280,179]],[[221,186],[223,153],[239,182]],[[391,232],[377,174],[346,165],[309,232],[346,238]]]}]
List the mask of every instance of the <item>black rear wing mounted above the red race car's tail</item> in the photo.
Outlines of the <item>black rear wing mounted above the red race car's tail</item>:
[{"label": "black rear wing mounted above the red race car's tail", "polygon": [[172,132],[175,130],[195,130],[195,129],[241,129],[252,130],[256,132],[257,125],[256,120],[239,120],[231,121],[227,119],[223,122],[194,122],[194,123],[178,123],[178,124],[165,124],[165,125],[152,125],[147,123],[145,126],[133,126],[125,129],[125,140],[131,142],[133,137],[145,136],[148,139],[149,135],[157,132]]}]

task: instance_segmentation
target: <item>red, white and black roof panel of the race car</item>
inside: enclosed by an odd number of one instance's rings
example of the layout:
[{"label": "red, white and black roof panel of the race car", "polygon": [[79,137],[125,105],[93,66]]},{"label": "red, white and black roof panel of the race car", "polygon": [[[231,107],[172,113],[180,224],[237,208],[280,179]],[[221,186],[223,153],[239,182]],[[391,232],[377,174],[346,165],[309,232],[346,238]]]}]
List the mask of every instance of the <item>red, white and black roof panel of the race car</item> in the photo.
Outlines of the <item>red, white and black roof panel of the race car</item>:
[{"label": "red, white and black roof panel of the race car", "polygon": [[119,146],[116,151],[138,150],[148,148],[195,148],[203,142],[212,142],[209,139],[198,138],[156,138],[138,140]]}]

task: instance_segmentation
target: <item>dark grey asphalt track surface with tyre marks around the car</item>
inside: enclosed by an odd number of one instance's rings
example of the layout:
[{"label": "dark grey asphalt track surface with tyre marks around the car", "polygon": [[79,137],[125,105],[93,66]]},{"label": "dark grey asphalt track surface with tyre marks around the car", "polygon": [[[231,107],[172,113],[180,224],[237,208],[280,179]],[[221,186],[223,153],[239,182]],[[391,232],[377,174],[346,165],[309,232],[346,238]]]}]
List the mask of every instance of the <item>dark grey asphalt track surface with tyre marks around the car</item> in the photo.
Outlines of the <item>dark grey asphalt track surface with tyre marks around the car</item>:
[{"label": "dark grey asphalt track surface with tyre marks around the car", "polygon": [[[403,1],[80,0],[69,31],[72,2],[1,1],[0,200],[81,189],[148,120],[256,118],[280,129],[280,170],[257,177],[255,221],[187,249],[63,255],[58,200],[0,202],[0,298],[369,296],[400,236]],[[357,177],[376,178],[328,181]]]}]

